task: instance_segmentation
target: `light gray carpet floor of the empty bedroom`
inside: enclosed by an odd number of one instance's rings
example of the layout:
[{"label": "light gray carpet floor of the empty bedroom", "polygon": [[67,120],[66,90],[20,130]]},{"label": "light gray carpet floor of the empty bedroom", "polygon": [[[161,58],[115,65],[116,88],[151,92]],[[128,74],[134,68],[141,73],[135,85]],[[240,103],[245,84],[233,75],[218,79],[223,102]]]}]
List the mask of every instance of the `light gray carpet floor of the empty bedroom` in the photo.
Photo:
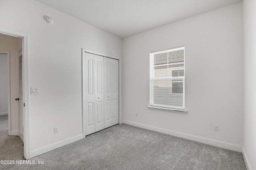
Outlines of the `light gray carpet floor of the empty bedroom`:
[{"label": "light gray carpet floor of the empty bedroom", "polygon": [[[13,160],[13,159],[12,159]],[[242,153],[121,124],[10,170],[246,170]],[[2,167],[1,167],[2,166]]]}]

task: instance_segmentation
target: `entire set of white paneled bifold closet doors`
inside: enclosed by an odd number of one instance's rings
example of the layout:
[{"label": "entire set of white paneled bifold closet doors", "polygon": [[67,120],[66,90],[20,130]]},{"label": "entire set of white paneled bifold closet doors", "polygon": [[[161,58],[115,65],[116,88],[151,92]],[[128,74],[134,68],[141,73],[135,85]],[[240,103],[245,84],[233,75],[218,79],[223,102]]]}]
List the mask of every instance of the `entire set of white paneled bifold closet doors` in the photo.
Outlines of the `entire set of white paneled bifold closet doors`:
[{"label": "entire set of white paneled bifold closet doors", "polygon": [[84,137],[119,123],[119,60],[83,53]]}]

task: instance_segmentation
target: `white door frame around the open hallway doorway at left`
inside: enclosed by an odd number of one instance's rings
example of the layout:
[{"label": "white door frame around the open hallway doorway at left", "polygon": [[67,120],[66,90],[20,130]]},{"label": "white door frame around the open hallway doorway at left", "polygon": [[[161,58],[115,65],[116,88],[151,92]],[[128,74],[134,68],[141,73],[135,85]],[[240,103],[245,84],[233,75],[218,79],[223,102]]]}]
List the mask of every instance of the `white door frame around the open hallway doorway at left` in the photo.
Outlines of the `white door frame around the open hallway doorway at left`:
[{"label": "white door frame around the open hallway doorway at left", "polygon": [[[0,33],[22,38],[22,84],[23,84],[23,127],[24,127],[24,158],[30,158],[29,136],[29,88],[28,88],[28,34],[0,27]],[[25,105],[25,106],[24,106]],[[9,123],[10,124],[10,123]],[[9,125],[10,126],[10,125]],[[9,128],[10,129],[10,128]]]}]

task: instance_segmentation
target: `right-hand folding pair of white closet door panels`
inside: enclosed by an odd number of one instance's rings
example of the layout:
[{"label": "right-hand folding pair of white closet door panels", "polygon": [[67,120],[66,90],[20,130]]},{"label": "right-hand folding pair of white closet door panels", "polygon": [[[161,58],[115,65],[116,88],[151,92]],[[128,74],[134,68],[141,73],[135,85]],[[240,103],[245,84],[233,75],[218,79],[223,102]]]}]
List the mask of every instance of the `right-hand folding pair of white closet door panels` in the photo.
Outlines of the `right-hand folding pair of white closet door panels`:
[{"label": "right-hand folding pair of white closet door panels", "polygon": [[104,128],[119,123],[118,60],[104,58]]}]

